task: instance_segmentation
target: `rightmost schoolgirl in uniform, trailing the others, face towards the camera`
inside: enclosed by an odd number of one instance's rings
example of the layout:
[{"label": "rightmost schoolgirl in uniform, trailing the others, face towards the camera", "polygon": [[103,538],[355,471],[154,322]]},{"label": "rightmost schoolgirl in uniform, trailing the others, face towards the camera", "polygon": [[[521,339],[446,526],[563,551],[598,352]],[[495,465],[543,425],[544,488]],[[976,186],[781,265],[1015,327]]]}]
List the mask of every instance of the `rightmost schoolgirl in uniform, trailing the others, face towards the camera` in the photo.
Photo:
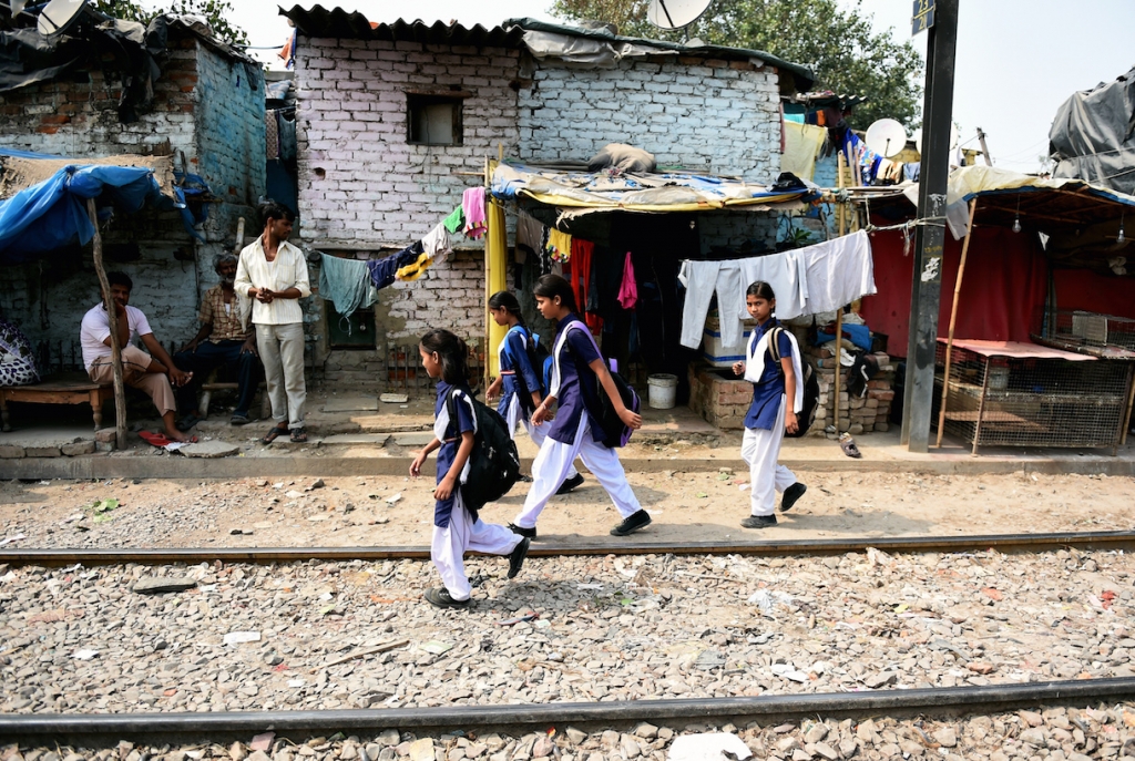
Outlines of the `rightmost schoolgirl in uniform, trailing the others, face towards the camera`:
[{"label": "rightmost schoolgirl in uniform, trailing the others, face towards the camera", "polygon": [[[792,471],[776,462],[780,457],[784,431],[796,433],[798,412],[804,408],[804,371],[800,347],[790,330],[781,328],[773,316],[776,294],[763,280],[751,284],[745,291],[745,305],[757,327],[749,338],[745,362],[733,364],[733,372],[745,375],[753,383],[753,404],[745,416],[745,436],[741,439],[741,458],[749,464],[750,515],[741,521],[746,529],[765,529],[776,525],[776,492],[783,492],[781,511],[796,504],[806,485],[796,480]],[[777,337],[774,362],[770,340]],[[789,401],[791,400],[791,401]]]}]

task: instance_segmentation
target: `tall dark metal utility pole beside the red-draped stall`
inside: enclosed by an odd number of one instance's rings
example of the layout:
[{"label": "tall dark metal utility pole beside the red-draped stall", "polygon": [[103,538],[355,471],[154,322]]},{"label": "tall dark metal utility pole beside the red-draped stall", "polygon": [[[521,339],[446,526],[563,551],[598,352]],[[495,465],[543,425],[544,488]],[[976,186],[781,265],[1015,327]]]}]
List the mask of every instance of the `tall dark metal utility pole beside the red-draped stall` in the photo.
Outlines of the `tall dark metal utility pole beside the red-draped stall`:
[{"label": "tall dark metal utility pole beside the red-draped stall", "polygon": [[[902,397],[901,442],[910,451],[930,448],[934,404],[934,358],[938,353],[938,312],[942,291],[942,252],[945,243],[945,189],[950,179],[950,127],[953,122],[953,64],[958,43],[958,0],[916,0],[928,7],[926,94],[923,100],[922,178],[915,228],[915,267],[910,288],[910,337]],[[923,26],[925,28],[925,26]]]}]

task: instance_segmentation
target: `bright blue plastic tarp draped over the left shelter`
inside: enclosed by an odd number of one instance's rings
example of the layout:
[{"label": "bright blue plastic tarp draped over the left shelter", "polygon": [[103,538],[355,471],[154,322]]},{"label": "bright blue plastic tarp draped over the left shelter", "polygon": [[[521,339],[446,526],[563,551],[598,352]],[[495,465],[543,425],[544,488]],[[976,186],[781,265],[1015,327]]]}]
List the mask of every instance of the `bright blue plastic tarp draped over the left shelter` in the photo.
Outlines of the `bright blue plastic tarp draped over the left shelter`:
[{"label": "bright blue plastic tarp draped over the left shelter", "polygon": [[0,264],[18,264],[43,252],[94,237],[87,198],[128,212],[161,198],[153,172],[137,167],[66,167],[47,181],[0,201]]}]

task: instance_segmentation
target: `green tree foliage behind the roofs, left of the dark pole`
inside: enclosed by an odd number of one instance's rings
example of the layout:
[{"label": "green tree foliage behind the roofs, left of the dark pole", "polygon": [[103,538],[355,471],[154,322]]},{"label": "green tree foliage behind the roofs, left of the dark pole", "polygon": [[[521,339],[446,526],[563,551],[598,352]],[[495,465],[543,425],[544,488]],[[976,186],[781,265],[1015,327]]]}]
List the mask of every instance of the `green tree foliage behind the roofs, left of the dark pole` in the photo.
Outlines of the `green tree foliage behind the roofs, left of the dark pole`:
[{"label": "green tree foliage behind the roofs, left of the dark pole", "polygon": [[[554,0],[552,12],[569,20],[599,19],[620,34],[681,42],[646,20],[648,0]],[[815,90],[867,95],[851,126],[890,117],[908,128],[920,122],[922,56],[893,29],[876,34],[860,0],[844,10],[836,0],[715,0],[690,26],[689,37],[709,44],[763,50],[812,68]]]}]

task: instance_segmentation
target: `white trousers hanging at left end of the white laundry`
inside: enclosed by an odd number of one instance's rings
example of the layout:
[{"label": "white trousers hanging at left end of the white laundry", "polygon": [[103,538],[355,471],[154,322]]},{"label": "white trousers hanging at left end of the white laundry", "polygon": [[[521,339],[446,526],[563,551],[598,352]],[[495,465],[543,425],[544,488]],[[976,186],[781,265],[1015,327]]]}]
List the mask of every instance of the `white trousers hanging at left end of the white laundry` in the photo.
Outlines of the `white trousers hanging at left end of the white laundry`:
[{"label": "white trousers hanging at left end of the white laundry", "polygon": [[[687,262],[686,303],[682,306],[682,346],[696,349],[709,312],[709,301],[717,294],[721,343],[726,348],[743,348],[745,289],[740,262]],[[740,352],[738,352],[740,354]]]}]

